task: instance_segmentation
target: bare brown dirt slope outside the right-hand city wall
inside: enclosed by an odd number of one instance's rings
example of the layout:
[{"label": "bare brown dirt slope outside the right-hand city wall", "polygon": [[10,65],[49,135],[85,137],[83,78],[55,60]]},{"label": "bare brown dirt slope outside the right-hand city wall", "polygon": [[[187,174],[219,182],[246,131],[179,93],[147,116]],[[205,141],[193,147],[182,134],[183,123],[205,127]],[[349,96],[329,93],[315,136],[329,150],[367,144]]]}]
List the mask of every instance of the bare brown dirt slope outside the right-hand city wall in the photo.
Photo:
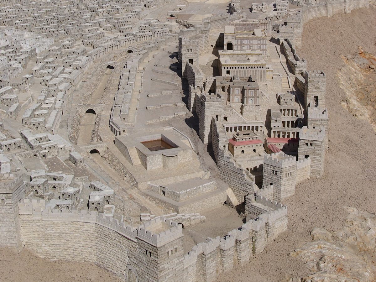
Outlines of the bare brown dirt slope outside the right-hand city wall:
[{"label": "bare brown dirt slope outside the right-hand city wall", "polygon": [[[326,106],[329,111],[329,152],[325,158],[323,179],[311,179],[296,187],[287,199],[288,230],[271,243],[257,258],[241,268],[221,276],[219,281],[278,281],[284,273],[303,277],[309,270],[290,256],[303,242],[311,241],[313,227],[341,229],[347,215],[343,206],[376,213],[375,134],[366,121],[347,112],[341,101],[346,98],[336,73],[343,66],[341,55],[353,56],[361,45],[376,54],[376,9],[357,9],[351,14],[317,18],[304,26],[303,47],[298,50],[308,61],[308,70],[323,70],[327,76]],[[346,27],[346,28],[345,28]]]}]

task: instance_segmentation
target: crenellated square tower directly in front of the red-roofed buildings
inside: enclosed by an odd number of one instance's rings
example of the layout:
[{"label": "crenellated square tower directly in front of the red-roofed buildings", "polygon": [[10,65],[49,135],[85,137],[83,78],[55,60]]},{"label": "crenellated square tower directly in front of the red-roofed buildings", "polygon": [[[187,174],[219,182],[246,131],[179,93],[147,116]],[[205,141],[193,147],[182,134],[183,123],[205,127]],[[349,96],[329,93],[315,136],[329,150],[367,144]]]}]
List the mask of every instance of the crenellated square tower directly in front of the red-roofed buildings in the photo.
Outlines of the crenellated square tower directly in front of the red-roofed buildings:
[{"label": "crenellated square tower directly in front of the red-roofed buildings", "polygon": [[273,188],[273,200],[282,201],[295,194],[296,159],[278,152],[264,156],[262,188]]}]

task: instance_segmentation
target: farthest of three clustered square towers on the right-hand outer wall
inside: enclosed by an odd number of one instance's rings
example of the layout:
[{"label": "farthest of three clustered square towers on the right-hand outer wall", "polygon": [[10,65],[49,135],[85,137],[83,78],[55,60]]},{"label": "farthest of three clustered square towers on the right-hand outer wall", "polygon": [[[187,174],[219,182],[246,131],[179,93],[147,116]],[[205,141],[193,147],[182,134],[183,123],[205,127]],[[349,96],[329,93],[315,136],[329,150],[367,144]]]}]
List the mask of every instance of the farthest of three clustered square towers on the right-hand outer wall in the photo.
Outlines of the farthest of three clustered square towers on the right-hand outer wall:
[{"label": "farthest of three clustered square towers on the right-hand outer wall", "polygon": [[326,76],[323,71],[303,71],[304,103],[307,108],[325,108]]}]

